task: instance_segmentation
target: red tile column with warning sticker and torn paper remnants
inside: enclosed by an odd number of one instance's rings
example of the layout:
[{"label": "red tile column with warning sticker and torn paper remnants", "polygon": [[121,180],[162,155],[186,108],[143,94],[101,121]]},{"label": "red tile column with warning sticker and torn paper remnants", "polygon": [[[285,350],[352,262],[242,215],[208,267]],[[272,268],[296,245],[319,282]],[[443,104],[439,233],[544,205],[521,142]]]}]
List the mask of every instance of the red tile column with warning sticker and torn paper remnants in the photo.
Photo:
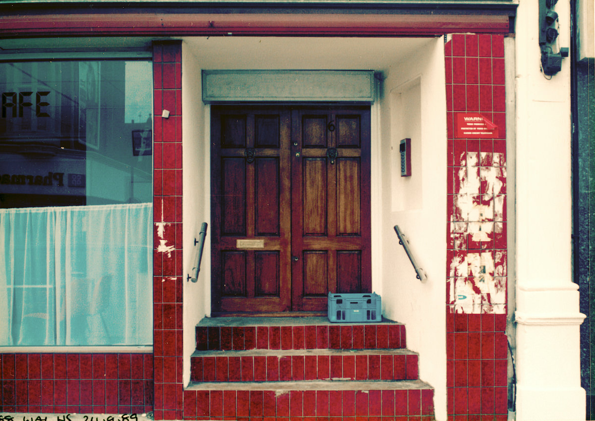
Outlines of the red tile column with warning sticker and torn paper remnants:
[{"label": "red tile column with warning sticker and torn paper remnants", "polygon": [[[506,420],[506,115],[504,39],[454,34],[445,45],[448,124],[447,411]],[[481,115],[497,134],[458,137]]]}]

